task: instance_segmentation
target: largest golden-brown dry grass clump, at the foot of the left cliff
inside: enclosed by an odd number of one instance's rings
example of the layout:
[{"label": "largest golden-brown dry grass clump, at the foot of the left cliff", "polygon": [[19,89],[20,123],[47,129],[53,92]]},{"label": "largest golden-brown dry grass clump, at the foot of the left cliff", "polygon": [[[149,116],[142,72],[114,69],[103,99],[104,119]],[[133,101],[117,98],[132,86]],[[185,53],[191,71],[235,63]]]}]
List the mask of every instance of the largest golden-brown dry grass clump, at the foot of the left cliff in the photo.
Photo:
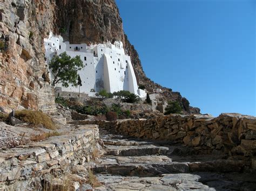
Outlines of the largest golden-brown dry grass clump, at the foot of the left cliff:
[{"label": "largest golden-brown dry grass clump, at the foot of the left cliff", "polygon": [[20,110],[15,112],[15,117],[35,127],[42,124],[46,129],[56,129],[51,118],[42,111]]}]

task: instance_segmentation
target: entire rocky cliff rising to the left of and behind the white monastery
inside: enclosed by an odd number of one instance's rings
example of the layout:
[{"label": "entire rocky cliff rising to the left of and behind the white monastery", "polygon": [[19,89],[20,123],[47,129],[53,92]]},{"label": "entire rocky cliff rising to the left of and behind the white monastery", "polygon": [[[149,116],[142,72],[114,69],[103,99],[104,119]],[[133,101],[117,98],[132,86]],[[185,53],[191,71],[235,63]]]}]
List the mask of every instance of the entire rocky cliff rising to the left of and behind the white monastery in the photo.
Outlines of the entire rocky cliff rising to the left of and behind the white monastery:
[{"label": "entire rocky cliff rising to the left of and behind the white monastery", "polygon": [[114,0],[5,0],[0,3],[0,26],[4,44],[0,55],[2,106],[21,104],[26,108],[40,109],[39,100],[48,97],[50,104],[47,108],[52,110],[49,88],[45,93],[49,96],[41,97],[39,92],[49,86],[43,38],[53,31],[74,44],[122,41],[126,53],[131,56],[139,84],[144,84],[150,93],[161,88],[166,100],[178,100],[187,113],[200,111],[190,107],[179,93],[146,77],[138,53],[123,31]]}]

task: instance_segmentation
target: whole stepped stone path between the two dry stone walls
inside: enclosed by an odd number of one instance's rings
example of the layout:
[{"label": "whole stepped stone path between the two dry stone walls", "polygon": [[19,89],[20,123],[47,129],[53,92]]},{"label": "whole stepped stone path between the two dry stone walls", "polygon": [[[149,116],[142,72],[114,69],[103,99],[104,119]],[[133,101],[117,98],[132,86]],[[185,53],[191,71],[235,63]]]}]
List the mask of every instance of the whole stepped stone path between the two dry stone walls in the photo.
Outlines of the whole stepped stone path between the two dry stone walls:
[{"label": "whole stepped stone path between the two dry stone walls", "polygon": [[255,190],[256,174],[240,173],[240,160],[223,155],[187,155],[180,145],[145,142],[100,131],[105,154],[93,166],[98,189]]}]

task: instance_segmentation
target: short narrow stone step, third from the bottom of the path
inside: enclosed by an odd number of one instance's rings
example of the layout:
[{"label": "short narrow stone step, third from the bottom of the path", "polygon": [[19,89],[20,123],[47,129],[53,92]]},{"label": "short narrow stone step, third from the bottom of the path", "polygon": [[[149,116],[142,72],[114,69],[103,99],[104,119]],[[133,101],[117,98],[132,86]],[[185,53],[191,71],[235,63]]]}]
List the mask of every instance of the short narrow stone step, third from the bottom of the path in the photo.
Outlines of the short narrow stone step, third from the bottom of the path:
[{"label": "short narrow stone step, third from the bottom of the path", "polygon": [[168,147],[158,147],[154,145],[139,145],[139,146],[106,145],[105,155],[142,156],[142,155],[152,155],[152,154],[165,154],[168,150],[169,150]]}]

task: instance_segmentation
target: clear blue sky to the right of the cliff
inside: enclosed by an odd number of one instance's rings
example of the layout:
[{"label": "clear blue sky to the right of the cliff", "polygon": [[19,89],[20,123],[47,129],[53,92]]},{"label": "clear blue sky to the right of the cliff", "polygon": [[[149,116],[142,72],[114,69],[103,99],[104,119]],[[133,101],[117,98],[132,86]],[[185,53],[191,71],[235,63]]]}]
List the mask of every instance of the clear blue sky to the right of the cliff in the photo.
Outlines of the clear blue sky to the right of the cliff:
[{"label": "clear blue sky to the right of the cliff", "polygon": [[253,0],[116,0],[148,77],[202,113],[256,116]]}]

